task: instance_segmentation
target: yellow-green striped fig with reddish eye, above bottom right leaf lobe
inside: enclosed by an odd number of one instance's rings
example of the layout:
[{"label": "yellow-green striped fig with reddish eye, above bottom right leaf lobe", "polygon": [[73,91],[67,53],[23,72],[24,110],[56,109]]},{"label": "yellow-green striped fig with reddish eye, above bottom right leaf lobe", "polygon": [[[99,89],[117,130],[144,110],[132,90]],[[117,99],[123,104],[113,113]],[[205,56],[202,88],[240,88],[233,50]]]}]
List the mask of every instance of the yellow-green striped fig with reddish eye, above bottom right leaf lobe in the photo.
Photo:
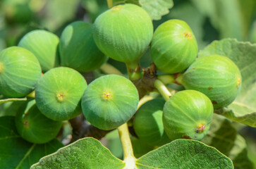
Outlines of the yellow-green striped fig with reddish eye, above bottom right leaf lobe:
[{"label": "yellow-green striped fig with reddish eye, above bottom right leaf lobe", "polygon": [[183,137],[201,140],[209,130],[213,111],[212,102],[205,94],[183,90],[164,104],[164,130],[171,140]]}]

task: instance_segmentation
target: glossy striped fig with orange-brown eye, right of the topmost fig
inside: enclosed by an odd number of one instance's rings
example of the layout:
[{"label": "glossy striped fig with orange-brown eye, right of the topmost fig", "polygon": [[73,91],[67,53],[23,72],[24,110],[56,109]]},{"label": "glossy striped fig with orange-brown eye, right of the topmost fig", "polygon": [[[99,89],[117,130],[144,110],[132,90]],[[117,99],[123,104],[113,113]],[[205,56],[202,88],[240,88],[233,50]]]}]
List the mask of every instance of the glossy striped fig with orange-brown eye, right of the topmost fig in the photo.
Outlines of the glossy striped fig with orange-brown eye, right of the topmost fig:
[{"label": "glossy striped fig with orange-brown eye, right of the topmost fig", "polygon": [[150,48],[152,61],[164,73],[180,73],[197,57],[197,41],[183,20],[167,20],[157,27]]}]

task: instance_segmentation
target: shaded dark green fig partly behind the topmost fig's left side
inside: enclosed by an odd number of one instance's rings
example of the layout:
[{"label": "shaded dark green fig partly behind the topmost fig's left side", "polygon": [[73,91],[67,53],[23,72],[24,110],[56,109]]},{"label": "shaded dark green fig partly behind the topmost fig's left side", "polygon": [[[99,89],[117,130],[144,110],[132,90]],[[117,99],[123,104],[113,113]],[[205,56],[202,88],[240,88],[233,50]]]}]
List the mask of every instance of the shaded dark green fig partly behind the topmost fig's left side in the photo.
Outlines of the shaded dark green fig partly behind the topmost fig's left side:
[{"label": "shaded dark green fig partly behind the topmost fig's left side", "polygon": [[106,61],[92,37],[92,24],[83,21],[71,23],[63,30],[59,52],[61,65],[80,72],[95,70]]}]

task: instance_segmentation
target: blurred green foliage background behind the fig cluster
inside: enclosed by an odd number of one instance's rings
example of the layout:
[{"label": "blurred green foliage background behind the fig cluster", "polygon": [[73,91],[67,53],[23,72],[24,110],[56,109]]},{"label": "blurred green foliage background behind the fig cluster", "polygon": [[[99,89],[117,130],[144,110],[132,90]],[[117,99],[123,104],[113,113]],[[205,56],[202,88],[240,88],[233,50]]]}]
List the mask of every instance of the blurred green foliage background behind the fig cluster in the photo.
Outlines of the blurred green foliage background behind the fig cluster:
[{"label": "blurred green foliage background behind the fig cluster", "polygon": [[[169,19],[181,19],[190,25],[199,49],[214,40],[236,38],[244,42],[256,42],[256,1],[255,0],[183,0],[173,1],[170,13],[161,20],[154,20],[154,29]],[[66,25],[75,20],[93,23],[97,15],[106,11],[104,0],[1,0],[0,1],[0,51],[15,46],[23,35],[31,30],[44,29],[60,36]],[[142,67],[151,63],[147,51],[140,61]],[[256,55],[256,54],[255,54]],[[123,63],[108,61],[126,73]],[[96,73],[97,74],[97,73]],[[0,108],[1,111],[1,108]],[[236,123],[234,123],[236,125]],[[252,127],[236,125],[240,134],[248,142],[249,158],[256,165],[256,130]],[[111,132],[102,142],[112,153],[122,158],[121,143],[117,132]],[[133,139],[140,147],[138,156],[154,147]]]}]

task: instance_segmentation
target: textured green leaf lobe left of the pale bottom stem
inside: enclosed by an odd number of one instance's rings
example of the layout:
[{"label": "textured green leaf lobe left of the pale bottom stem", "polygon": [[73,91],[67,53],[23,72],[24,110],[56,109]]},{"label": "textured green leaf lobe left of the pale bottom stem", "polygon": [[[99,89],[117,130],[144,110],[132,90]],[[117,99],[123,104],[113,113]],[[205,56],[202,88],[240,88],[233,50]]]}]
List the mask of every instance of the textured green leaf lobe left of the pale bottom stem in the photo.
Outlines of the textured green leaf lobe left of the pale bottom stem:
[{"label": "textured green leaf lobe left of the pale bottom stem", "polygon": [[97,139],[84,138],[32,165],[31,169],[123,168],[125,163],[114,157]]}]

